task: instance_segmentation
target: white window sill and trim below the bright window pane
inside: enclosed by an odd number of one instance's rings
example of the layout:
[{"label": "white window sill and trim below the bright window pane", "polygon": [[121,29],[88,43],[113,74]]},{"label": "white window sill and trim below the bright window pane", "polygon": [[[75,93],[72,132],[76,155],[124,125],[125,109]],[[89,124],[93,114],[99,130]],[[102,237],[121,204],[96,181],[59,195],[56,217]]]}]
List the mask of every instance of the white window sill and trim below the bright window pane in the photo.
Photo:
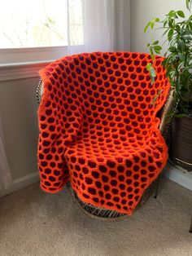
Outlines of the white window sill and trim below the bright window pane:
[{"label": "white window sill and trim below the bright window pane", "polygon": [[0,82],[39,77],[39,69],[50,62],[84,49],[84,45],[0,49]]}]

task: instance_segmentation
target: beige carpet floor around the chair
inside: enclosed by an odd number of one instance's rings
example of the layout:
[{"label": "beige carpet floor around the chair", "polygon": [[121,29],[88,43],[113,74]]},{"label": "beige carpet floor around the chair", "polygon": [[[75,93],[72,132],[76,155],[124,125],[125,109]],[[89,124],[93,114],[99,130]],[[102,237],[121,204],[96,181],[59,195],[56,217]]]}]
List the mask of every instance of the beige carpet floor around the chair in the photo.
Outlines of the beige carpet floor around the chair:
[{"label": "beige carpet floor around the chair", "polygon": [[0,255],[192,255],[192,192],[164,180],[159,196],[116,223],[87,218],[66,190],[33,184],[0,199]]}]

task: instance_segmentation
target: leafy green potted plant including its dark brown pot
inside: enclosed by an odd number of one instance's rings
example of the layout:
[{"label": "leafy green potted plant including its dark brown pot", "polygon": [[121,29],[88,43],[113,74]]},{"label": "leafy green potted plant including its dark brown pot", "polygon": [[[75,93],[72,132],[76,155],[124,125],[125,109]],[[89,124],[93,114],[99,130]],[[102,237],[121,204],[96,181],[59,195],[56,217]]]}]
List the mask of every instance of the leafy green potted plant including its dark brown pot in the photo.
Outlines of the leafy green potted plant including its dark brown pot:
[{"label": "leafy green potted plant including its dark brown pot", "polygon": [[[186,7],[191,11],[192,0],[185,0]],[[158,27],[157,27],[158,25]],[[169,11],[164,20],[154,18],[144,31],[153,30],[152,42],[147,46],[151,53],[152,63],[146,68],[151,74],[151,83],[155,82],[155,55],[162,50],[164,43],[168,44],[163,65],[171,83],[176,111],[172,121],[170,135],[171,161],[192,170],[192,15],[186,17],[183,11]],[[162,29],[165,41],[159,44],[155,41],[156,29]],[[172,113],[170,113],[172,115]]]}]

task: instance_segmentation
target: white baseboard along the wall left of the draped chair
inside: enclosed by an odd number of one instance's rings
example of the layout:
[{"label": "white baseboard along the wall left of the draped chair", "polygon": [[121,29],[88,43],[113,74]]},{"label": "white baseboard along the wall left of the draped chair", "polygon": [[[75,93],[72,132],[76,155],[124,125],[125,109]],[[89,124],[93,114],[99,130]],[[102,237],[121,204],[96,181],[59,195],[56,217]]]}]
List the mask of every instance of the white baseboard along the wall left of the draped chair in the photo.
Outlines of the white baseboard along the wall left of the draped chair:
[{"label": "white baseboard along the wall left of the draped chair", "polygon": [[3,189],[0,191],[0,197],[7,196],[12,192],[15,192],[21,188],[25,188],[33,183],[37,183],[39,181],[39,174],[35,172],[33,174],[25,175],[19,179],[15,179],[12,182],[11,188]]}]

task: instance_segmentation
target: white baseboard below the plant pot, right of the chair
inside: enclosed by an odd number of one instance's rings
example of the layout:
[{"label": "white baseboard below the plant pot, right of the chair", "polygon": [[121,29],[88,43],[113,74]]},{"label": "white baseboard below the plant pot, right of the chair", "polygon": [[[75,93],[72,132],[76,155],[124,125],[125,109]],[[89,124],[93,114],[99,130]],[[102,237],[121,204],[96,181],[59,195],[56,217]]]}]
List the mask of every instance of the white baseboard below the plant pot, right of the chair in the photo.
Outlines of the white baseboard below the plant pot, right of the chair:
[{"label": "white baseboard below the plant pot, right of the chair", "polygon": [[182,170],[177,169],[176,166],[168,163],[164,168],[164,176],[192,191],[192,174],[184,173]]}]

